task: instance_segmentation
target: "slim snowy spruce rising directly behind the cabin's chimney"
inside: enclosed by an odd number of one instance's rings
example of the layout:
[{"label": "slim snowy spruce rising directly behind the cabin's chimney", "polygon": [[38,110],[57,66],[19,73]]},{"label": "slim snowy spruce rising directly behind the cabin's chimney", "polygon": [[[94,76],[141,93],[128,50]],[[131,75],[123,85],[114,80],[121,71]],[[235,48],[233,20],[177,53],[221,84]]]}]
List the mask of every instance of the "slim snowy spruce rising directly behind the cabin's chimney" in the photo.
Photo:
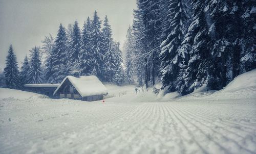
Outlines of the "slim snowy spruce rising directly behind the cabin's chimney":
[{"label": "slim snowy spruce rising directly behind the cabin's chimney", "polygon": [[81,48],[81,32],[77,20],[73,25],[72,40],[70,44],[70,69],[78,69],[79,53]]}]

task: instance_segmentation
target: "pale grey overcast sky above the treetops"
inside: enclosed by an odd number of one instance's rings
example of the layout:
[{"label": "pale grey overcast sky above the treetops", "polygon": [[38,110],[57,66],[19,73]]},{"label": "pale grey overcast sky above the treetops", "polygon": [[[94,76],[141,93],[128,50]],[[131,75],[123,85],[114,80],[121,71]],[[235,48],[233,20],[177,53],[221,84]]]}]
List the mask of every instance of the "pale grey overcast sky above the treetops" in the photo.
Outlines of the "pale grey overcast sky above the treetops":
[{"label": "pale grey overcast sky above the treetops", "polygon": [[20,64],[45,36],[56,36],[60,22],[67,27],[77,19],[81,29],[95,10],[101,20],[108,16],[113,38],[122,45],[135,8],[136,0],[0,0],[0,69],[10,44]]}]

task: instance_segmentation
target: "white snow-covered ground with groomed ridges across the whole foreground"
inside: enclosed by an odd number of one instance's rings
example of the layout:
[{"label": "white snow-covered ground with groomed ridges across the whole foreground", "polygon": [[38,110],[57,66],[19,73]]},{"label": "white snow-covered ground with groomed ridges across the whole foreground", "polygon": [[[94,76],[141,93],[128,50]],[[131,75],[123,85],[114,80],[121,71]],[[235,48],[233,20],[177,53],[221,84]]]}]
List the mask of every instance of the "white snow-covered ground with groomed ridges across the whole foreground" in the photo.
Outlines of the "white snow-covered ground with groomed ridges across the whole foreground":
[{"label": "white snow-covered ground with groomed ridges across the whole foreground", "polygon": [[256,70],[183,97],[106,88],[105,102],[0,89],[0,153],[256,153]]}]

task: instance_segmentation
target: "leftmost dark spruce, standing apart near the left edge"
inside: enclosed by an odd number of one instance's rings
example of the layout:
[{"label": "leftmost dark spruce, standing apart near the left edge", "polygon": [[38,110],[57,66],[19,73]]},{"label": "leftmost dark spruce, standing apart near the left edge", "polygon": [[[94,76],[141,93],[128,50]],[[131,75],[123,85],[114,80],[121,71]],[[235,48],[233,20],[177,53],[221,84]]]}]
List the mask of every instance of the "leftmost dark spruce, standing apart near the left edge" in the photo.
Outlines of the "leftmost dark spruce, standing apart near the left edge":
[{"label": "leftmost dark spruce, standing apart near the left edge", "polygon": [[18,70],[17,58],[14,54],[12,45],[9,47],[5,65],[4,74],[6,87],[11,89],[20,88],[20,73]]}]

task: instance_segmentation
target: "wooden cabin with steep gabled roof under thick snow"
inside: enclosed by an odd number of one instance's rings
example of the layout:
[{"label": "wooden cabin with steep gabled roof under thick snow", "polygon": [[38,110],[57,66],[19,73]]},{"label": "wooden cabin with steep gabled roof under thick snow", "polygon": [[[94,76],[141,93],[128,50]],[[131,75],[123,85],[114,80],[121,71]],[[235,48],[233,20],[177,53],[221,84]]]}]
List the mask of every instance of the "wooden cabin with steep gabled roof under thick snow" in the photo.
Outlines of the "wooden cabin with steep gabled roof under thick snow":
[{"label": "wooden cabin with steep gabled roof under thick snow", "polygon": [[54,91],[59,98],[94,101],[103,99],[108,94],[106,87],[94,76],[67,76]]}]

